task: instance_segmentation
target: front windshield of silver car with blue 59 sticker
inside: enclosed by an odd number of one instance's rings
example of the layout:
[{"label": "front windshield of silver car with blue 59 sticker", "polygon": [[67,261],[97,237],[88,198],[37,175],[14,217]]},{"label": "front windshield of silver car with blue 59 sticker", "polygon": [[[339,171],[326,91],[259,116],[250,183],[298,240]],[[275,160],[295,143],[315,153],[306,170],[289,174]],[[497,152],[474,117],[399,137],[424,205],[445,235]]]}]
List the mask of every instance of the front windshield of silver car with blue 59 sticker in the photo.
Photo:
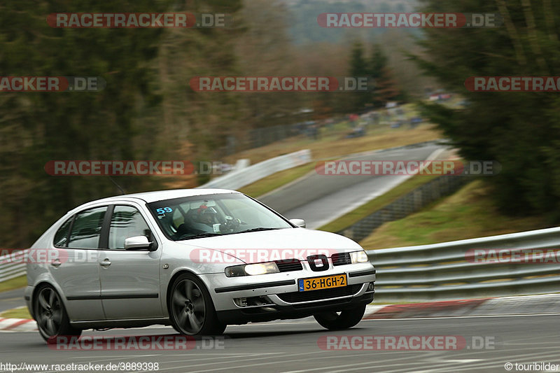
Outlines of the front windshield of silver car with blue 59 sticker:
[{"label": "front windshield of silver car with blue 59 sticker", "polygon": [[148,209],[173,241],[293,227],[239,193],[165,199],[148,204]]}]

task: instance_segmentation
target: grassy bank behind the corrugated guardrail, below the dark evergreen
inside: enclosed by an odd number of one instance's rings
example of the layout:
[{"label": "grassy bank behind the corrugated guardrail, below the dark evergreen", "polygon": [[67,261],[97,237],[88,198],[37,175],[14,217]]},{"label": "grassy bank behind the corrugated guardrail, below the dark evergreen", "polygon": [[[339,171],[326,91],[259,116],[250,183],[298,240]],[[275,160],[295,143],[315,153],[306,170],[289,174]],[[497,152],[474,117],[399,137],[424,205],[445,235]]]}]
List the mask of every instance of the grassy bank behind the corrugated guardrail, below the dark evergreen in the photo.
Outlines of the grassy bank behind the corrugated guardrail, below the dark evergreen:
[{"label": "grassy bank behind the corrugated guardrail, below the dark evergreen", "polygon": [[371,250],[435,244],[549,227],[539,216],[512,217],[501,214],[483,181],[468,183],[449,197],[418,213],[381,225],[360,244]]}]

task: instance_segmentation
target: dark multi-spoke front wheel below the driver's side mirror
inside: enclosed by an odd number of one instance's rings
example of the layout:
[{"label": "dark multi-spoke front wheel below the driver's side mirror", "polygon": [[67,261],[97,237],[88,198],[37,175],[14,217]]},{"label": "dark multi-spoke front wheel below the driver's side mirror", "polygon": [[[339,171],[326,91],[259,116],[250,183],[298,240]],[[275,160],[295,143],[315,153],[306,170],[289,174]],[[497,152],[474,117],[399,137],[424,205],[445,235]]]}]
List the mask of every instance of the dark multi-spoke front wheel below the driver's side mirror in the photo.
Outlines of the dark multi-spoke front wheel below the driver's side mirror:
[{"label": "dark multi-spoke front wheel below the driver's side mirror", "polygon": [[204,283],[193,274],[181,274],[169,293],[169,318],[182,335],[221,335],[228,325],[218,321],[214,302]]}]

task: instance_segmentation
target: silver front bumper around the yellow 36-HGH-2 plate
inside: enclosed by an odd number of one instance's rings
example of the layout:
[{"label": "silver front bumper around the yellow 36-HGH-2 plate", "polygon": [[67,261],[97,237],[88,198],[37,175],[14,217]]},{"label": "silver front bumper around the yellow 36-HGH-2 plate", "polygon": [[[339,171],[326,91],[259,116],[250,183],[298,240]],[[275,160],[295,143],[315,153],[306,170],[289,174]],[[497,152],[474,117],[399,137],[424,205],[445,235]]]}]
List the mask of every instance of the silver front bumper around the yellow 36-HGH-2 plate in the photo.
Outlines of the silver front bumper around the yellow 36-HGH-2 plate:
[{"label": "silver front bumper around the yellow 36-HGH-2 plate", "polygon": [[[298,279],[346,274],[347,286],[299,292]],[[340,311],[373,301],[375,269],[370,263],[330,267],[328,271],[310,270],[264,274],[260,276],[226,277],[225,274],[204,274],[221,322],[243,324],[249,321],[272,321],[302,318],[324,311]],[[371,284],[371,285],[370,285]],[[239,300],[258,300],[258,305],[239,304]]]}]

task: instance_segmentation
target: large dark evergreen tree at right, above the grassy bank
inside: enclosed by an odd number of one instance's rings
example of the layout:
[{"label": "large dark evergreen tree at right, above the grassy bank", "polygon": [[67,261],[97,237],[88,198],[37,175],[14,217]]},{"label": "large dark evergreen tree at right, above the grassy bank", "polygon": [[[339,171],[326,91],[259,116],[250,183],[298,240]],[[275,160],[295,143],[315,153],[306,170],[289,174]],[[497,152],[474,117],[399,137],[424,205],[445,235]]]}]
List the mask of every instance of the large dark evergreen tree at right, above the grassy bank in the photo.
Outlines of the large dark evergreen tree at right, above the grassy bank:
[{"label": "large dark evergreen tree at right, above the grassy bank", "polygon": [[442,86],[461,93],[463,109],[425,105],[425,112],[468,160],[497,160],[485,180],[512,214],[547,214],[560,220],[560,99],[557,93],[469,92],[471,76],[558,76],[560,3],[549,0],[457,0],[453,10],[425,0],[423,11],[496,13],[503,26],[427,29],[416,58]]}]

